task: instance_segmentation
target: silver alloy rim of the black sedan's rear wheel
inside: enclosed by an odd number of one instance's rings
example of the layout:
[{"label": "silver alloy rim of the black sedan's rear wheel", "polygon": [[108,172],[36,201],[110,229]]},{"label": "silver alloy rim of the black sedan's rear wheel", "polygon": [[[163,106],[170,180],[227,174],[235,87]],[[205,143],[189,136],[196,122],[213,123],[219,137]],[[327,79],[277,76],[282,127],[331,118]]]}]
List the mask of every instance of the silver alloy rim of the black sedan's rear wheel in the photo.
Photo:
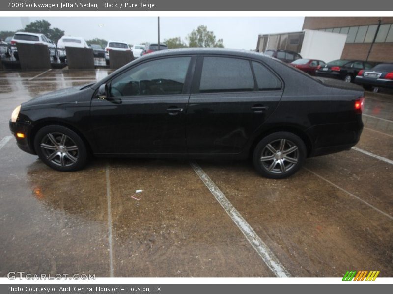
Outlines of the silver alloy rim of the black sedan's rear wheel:
[{"label": "silver alloy rim of the black sedan's rear wheel", "polygon": [[289,172],[299,162],[299,148],[287,139],[274,140],[262,149],[260,162],[267,172]]}]

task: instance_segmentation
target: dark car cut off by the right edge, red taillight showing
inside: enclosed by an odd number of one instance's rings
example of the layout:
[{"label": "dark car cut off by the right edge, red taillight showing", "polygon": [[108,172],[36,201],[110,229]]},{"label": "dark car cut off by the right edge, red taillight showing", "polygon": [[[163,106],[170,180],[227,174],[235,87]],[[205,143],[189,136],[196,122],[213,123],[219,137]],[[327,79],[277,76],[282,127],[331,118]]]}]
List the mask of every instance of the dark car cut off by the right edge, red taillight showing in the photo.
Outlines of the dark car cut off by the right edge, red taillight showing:
[{"label": "dark car cut off by the right edge, red taillight showing", "polygon": [[355,77],[355,83],[365,90],[378,92],[379,88],[393,89],[393,63],[380,63],[370,70],[361,70]]}]

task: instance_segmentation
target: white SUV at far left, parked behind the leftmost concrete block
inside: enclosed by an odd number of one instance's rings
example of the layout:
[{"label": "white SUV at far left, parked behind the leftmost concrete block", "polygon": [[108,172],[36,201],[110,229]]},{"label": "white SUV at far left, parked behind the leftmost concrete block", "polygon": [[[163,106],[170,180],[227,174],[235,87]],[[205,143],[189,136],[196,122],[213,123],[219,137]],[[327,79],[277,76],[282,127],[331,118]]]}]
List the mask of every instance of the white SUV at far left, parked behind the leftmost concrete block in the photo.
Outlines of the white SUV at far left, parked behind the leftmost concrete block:
[{"label": "white SUV at far left, parked behind the leftmost concrete block", "polygon": [[35,34],[28,32],[16,32],[14,37],[11,40],[11,45],[13,46],[13,55],[16,60],[19,60],[18,49],[16,47],[17,43],[26,43],[26,44],[44,44],[48,46],[49,56],[53,59],[57,59],[57,48],[56,45],[53,44],[45,35],[43,34]]}]

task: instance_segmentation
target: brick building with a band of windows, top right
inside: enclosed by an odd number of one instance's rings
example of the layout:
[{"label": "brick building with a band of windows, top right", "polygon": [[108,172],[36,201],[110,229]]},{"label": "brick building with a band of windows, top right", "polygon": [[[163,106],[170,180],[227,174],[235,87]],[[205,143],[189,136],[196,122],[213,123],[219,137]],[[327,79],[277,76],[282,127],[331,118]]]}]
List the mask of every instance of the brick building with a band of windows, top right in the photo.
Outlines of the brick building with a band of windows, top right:
[{"label": "brick building with a band of windows, top right", "polygon": [[303,29],[347,34],[342,59],[393,62],[393,17],[306,17]]}]

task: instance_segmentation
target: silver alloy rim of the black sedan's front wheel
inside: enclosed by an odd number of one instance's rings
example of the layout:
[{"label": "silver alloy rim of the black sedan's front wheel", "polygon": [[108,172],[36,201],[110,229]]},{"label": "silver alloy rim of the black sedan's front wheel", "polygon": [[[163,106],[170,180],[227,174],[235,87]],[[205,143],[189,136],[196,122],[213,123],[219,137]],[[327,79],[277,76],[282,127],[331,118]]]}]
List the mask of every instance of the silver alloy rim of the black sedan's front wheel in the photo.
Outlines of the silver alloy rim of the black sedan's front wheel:
[{"label": "silver alloy rim of the black sedan's front wheel", "polygon": [[41,140],[40,147],[47,160],[55,165],[69,167],[78,161],[78,146],[65,134],[46,134]]}]

